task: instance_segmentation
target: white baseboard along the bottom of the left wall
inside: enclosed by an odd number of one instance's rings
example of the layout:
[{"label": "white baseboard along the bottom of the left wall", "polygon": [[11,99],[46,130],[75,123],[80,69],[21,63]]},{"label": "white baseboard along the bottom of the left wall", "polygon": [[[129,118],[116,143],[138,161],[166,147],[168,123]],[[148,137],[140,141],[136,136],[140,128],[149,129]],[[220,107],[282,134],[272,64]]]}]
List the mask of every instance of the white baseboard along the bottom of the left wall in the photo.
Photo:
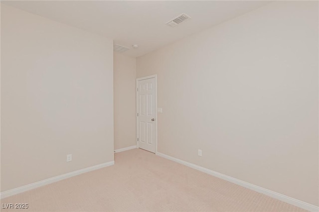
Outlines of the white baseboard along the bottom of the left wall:
[{"label": "white baseboard along the bottom of the left wall", "polygon": [[64,180],[64,179],[69,178],[69,177],[73,177],[73,176],[76,176],[76,175],[79,175],[79,174],[83,174],[85,172],[90,172],[90,171],[93,171],[93,170],[96,170],[96,169],[101,169],[101,168],[104,168],[104,167],[107,167],[107,166],[112,166],[112,165],[114,165],[114,161],[110,161],[110,162],[107,162],[107,163],[101,163],[101,164],[98,164],[98,165],[95,165],[95,166],[91,166],[91,167],[88,167],[88,168],[80,169],[80,170],[77,170],[77,171],[74,171],[74,172],[69,172],[69,173],[66,173],[66,174],[63,174],[63,175],[52,177],[52,178],[49,178],[49,179],[46,179],[46,180],[41,180],[41,181],[38,181],[38,182],[35,182],[35,183],[31,183],[31,184],[28,184],[28,185],[25,185],[25,186],[21,186],[21,187],[15,188],[15,189],[11,189],[11,190],[8,190],[8,191],[5,191],[5,192],[1,192],[1,194],[0,194],[1,198],[0,199],[9,197],[9,196],[12,196],[12,195],[15,195],[15,194],[19,194],[19,193],[22,193],[22,192],[26,192],[28,190],[35,189],[35,188],[38,188],[40,186],[51,184],[51,183],[54,183],[54,182],[57,182],[57,181],[60,181],[60,180]]}]

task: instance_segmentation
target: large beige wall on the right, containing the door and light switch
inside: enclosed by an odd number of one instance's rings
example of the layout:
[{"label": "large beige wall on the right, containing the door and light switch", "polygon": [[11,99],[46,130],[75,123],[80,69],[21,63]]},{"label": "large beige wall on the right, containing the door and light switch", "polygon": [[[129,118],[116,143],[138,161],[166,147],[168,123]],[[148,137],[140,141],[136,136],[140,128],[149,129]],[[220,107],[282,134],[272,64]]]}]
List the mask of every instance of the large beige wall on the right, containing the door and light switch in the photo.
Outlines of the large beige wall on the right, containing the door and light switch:
[{"label": "large beige wall on the right, containing the door and light switch", "polygon": [[318,36],[318,1],[281,1],[138,58],[158,151],[318,206]]}]

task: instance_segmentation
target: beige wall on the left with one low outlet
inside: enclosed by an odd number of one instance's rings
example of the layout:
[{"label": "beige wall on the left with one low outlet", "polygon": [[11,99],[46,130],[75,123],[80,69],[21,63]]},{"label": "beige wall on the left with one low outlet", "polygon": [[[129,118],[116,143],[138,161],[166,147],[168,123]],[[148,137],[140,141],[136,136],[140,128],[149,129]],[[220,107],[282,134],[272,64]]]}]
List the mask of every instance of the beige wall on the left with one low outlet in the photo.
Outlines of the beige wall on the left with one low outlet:
[{"label": "beige wall on the left with one low outlet", "polygon": [[113,161],[113,126],[113,41],[1,4],[1,191]]}]

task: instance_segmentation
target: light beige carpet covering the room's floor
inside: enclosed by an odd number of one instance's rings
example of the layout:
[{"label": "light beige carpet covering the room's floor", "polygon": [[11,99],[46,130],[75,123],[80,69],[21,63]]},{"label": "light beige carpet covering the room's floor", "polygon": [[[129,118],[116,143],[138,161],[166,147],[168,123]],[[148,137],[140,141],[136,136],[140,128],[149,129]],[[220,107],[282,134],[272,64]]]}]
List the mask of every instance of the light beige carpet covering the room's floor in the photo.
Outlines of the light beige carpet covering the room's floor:
[{"label": "light beige carpet covering the room's floor", "polygon": [[115,165],[14,195],[1,211],[218,211],[304,210],[142,150],[115,154]]}]

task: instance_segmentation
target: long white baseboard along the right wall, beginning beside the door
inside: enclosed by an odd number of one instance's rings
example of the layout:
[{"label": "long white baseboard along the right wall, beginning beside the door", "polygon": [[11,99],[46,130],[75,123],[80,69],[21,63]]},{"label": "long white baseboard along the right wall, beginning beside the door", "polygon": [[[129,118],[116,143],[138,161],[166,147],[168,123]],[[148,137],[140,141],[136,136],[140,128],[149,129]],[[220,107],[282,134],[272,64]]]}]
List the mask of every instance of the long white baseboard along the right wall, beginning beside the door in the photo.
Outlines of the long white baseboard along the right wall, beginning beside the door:
[{"label": "long white baseboard along the right wall, beginning beside the door", "polygon": [[183,164],[183,165],[185,165],[185,166],[188,166],[188,167],[190,167],[190,168],[196,169],[196,170],[198,170],[198,171],[204,172],[204,173],[209,174],[209,175],[213,175],[213,176],[218,177],[218,178],[221,178],[221,179],[223,179],[223,180],[227,180],[227,181],[232,182],[232,183],[234,183],[234,184],[237,184],[237,185],[240,185],[240,186],[242,186],[242,187],[251,189],[251,190],[253,190],[253,191],[262,193],[262,194],[264,194],[264,195],[267,195],[267,196],[272,197],[272,198],[275,198],[275,199],[277,199],[277,200],[280,200],[280,201],[289,203],[289,204],[291,204],[291,205],[297,206],[297,207],[302,208],[302,209],[305,209],[305,210],[307,210],[307,211],[311,211],[311,212],[318,212],[318,211],[319,211],[319,207],[314,206],[314,205],[311,205],[311,204],[309,204],[309,203],[305,203],[305,202],[303,202],[303,201],[296,200],[296,199],[294,199],[294,198],[291,198],[291,197],[288,197],[288,196],[279,194],[279,193],[277,193],[277,192],[270,191],[270,190],[268,190],[268,189],[265,189],[265,188],[262,188],[262,187],[259,187],[259,186],[256,186],[256,185],[247,183],[247,182],[242,181],[242,180],[238,180],[238,179],[236,179],[236,178],[233,178],[233,177],[230,177],[230,176],[221,174],[221,173],[219,173],[219,172],[212,171],[212,170],[210,170],[210,169],[206,169],[206,168],[201,167],[201,166],[197,166],[197,165],[195,165],[195,164],[192,164],[192,163],[189,163],[189,162],[186,162],[186,161],[183,161],[183,160],[180,160],[180,159],[177,159],[177,158],[174,158],[174,157],[165,155],[165,154],[160,153],[160,152],[157,152],[156,154],[159,155],[160,157],[163,157],[163,158],[166,158],[166,159],[168,159],[168,160],[172,160],[172,161],[174,161],[174,162]]}]

